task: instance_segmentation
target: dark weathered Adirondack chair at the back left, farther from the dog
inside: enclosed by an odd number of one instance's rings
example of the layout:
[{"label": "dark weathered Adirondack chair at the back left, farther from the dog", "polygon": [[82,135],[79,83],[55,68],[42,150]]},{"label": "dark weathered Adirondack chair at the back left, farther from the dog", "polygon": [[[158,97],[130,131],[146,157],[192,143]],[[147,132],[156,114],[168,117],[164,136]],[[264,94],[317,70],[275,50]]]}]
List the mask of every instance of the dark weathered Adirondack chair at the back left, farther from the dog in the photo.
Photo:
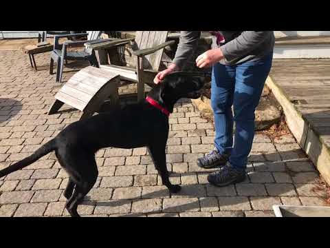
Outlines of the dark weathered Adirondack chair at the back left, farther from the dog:
[{"label": "dark weathered Adirondack chair at the back left, farther from the dog", "polygon": [[[80,34],[59,34],[54,36],[54,50],[50,56],[50,74],[53,74],[54,61],[57,62],[56,81],[61,83],[63,74],[64,61],[89,61],[89,63],[98,67],[98,60],[94,50],[91,48],[85,48],[83,51],[67,51],[67,48],[83,47],[84,43],[88,41],[95,41],[100,38],[102,31],[88,31],[87,33]],[[59,44],[59,39],[63,37],[87,37],[84,41],[65,41],[63,44]]]}]

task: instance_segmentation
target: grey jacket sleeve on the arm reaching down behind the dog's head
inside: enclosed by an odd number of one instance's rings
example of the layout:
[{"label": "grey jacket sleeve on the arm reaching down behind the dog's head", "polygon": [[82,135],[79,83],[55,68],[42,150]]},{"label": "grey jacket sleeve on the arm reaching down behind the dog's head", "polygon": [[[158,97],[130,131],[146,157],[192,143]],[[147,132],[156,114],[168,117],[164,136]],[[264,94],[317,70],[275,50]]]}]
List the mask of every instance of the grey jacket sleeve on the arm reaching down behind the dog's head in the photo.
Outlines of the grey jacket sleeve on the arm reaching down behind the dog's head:
[{"label": "grey jacket sleeve on the arm reaching down behind the dog's head", "polygon": [[175,58],[173,59],[173,63],[175,63],[179,69],[183,68],[191,58],[192,54],[194,54],[200,35],[200,31],[180,32],[180,40],[179,44],[177,45],[177,52],[175,53]]}]

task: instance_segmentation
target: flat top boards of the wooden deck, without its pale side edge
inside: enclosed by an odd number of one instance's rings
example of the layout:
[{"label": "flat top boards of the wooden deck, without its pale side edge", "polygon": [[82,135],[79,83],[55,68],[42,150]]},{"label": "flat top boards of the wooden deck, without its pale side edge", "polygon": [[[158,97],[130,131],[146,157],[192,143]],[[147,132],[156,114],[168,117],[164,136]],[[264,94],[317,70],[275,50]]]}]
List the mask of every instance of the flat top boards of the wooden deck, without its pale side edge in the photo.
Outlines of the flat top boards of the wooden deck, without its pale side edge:
[{"label": "flat top boards of the wooden deck, without its pale side edge", "polygon": [[270,76],[314,131],[329,136],[330,59],[276,59]]}]

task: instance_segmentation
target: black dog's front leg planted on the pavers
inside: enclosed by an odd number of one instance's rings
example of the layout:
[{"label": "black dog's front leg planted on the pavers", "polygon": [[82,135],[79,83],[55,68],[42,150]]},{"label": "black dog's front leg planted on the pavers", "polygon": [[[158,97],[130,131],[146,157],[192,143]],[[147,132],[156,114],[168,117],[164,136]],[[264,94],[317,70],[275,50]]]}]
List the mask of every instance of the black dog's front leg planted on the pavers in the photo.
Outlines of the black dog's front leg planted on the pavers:
[{"label": "black dog's front leg planted on the pavers", "polygon": [[168,177],[165,147],[153,144],[148,146],[148,150],[151,158],[153,159],[155,168],[158,170],[160,176],[162,177],[163,184],[168,188],[171,193],[179,192],[181,189],[180,185],[173,185],[172,183],[170,183]]}]

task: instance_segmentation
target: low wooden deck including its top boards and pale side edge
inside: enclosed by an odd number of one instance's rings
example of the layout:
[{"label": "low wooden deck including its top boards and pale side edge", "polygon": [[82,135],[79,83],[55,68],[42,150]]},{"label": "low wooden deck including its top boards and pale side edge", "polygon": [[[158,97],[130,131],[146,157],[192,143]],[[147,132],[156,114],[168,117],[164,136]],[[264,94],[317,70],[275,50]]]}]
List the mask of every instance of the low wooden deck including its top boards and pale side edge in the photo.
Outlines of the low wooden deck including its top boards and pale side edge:
[{"label": "low wooden deck including its top boards and pale side edge", "polygon": [[330,59],[274,59],[266,83],[298,143],[330,184]]}]

